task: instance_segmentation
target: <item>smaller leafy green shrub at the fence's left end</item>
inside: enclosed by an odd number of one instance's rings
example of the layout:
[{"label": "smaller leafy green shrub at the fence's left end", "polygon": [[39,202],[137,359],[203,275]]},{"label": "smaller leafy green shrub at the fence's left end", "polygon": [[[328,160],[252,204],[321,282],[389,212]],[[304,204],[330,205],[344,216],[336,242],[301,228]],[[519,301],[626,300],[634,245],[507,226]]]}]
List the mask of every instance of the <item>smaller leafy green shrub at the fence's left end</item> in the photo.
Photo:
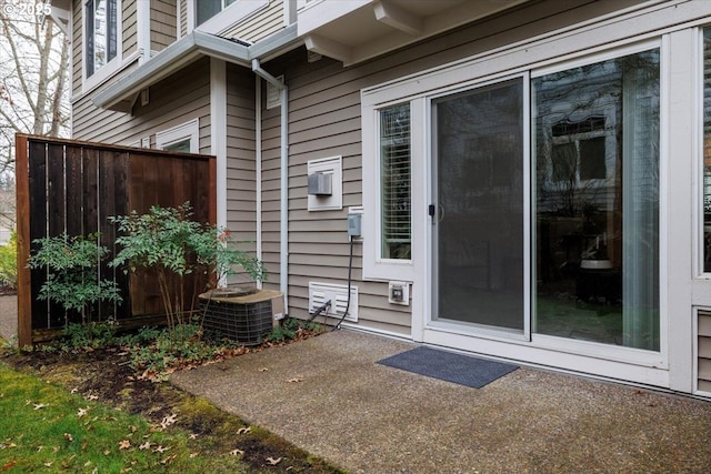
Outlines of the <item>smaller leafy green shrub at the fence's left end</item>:
[{"label": "smaller leafy green shrub at the fence's left end", "polygon": [[39,249],[30,256],[30,269],[47,269],[39,300],[53,301],[66,311],[78,311],[82,323],[91,323],[93,306],[122,301],[116,282],[100,279],[99,264],[109,250],[99,244],[99,234],[69,236],[66,233],[33,241]]}]

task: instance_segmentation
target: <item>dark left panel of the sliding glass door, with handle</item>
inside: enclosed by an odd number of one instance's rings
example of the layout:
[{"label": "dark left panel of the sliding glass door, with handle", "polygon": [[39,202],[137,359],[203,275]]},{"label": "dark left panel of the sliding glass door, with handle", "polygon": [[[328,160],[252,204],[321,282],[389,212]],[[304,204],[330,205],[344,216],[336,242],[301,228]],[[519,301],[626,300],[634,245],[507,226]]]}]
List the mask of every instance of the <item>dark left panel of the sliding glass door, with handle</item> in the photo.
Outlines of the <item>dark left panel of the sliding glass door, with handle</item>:
[{"label": "dark left panel of the sliding glass door, with handle", "polygon": [[432,102],[434,319],[523,333],[523,82]]}]

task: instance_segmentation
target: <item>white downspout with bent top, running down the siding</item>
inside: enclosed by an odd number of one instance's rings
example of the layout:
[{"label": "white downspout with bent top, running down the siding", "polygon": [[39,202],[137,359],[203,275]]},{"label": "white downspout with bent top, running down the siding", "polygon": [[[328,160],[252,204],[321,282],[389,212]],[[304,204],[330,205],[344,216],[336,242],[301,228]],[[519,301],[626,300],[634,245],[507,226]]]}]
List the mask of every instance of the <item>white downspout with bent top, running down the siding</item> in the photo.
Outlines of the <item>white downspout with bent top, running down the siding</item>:
[{"label": "white downspout with bent top, running down the siding", "polygon": [[[289,93],[287,85],[264,71],[258,59],[252,59],[252,71],[279,89],[281,102],[281,204],[279,231],[279,290],[284,295],[284,309],[289,314]],[[261,101],[260,101],[261,109]]]}]

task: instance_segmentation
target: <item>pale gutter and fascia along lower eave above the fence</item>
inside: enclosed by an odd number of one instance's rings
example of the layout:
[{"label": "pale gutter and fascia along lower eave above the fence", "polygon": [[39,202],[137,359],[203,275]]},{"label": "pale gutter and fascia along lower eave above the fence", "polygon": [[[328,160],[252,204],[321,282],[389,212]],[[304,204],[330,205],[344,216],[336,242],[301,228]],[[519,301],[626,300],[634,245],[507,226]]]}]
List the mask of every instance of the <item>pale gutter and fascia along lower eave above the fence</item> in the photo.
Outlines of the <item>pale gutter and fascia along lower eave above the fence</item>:
[{"label": "pale gutter and fascia along lower eave above the fence", "polygon": [[166,48],[160,54],[151,58],[130,74],[99,92],[93,99],[93,103],[103,109],[111,109],[119,102],[134,97],[141,89],[169,77],[201,56],[219,58],[247,67],[250,64],[247,47],[213,34],[193,31]]}]

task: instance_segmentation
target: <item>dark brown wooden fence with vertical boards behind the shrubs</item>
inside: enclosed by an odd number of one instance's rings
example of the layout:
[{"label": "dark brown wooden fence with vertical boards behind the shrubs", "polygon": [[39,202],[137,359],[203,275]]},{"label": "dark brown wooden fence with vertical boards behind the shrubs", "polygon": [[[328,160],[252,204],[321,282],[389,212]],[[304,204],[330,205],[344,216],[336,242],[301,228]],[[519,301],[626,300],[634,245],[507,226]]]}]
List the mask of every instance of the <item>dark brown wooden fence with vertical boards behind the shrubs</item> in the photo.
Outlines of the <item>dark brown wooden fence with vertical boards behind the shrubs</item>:
[{"label": "dark brown wooden fence with vertical boards behind the shrubs", "polygon": [[[216,222],[214,157],[18,134],[16,186],[20,346],[43,330],[81,321],[81,314],[37,299],[47,275],[27,268],[36,239],[99,232],[100,243],[116,254],[117,231],[109,216],[186,201],[197,221]],[[97,278],[116,281],[123,302],[94,307],[94,320],[163,313],[158,285],[146,275],[103,264]]]}]

